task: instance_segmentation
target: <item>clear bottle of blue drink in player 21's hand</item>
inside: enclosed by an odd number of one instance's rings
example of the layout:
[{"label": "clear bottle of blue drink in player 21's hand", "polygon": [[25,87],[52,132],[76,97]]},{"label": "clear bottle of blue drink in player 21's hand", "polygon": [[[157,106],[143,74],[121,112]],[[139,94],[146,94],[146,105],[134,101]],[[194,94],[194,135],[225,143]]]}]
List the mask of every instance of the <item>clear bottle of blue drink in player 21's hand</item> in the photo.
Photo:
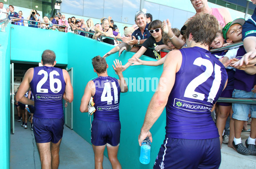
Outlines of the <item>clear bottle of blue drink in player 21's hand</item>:
[{"label": "clear bottle of blue drink in player 21's hand", "polygon": [[151,142],[149,137],[145,138],[141,143],[140,147],[140,162],[143,164],[148,164],[150,162],[150,149],[151,149]]}]

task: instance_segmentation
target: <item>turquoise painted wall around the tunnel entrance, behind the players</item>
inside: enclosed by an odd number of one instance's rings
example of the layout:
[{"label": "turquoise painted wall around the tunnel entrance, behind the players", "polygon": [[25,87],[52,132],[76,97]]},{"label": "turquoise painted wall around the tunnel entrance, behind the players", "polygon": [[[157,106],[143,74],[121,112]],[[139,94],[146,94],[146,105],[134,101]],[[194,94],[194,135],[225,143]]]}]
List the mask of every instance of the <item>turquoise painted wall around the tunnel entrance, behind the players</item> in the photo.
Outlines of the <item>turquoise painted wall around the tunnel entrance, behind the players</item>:
[{"label": "turquoise painted wall around the tunnel entrance, behind the players", "polygon": [[[10,25],[9,25],[10,26]],[[67,68],[73,67],[73,88],[74,88],[74,115],[73,115],[73,130],[81,135],[87,142],[90,143],[90,117],[87,113],[81,113],[79,111],[81,98],[84,93],[84,88],[90,79],[96,77],[96,73],[93,72],[91,59],[100,55],[103,56],[108,52],[112,45],[108,45],[102,42],[98,42],[93,39],[81,37],[72,33],[63,33],[50,30],[42,30],[36,28],[28,28],[23,26],[12,25],[13,28],[6,28],[5,34],[8,41],[0,39],[0,44],[6,44],[5,50],[3,45],[0,47],[0,51],[4,51],[3,57],[1,57],[1,76],[5,79],[6,84],[1,84],[0,91],[3,98],[1,101],[2,107],[5,107],[6,112],[3,115],[1,127],[7,127],[6,129],[0,128],[0,133],[6,136],[5,139],[0,139],[3,150],[0,157],[0,163],[6,164],[9,168],[9,147],[10,147],[10,124],[9,124],[9,64],[10,57],[11,62],[15,63],[37,63],[41,61],[41,54],[45,49],[55,51],[56,61],[58,65],[67,65]],[[8,43],[7,43],[8,42]],[[119,58],[123,64],[132,56],[133,53],[124,52]],[[6,55],[6,57],[4,57]],[[117,77],[114,73],[112,64],[113,60],[118,59],[118,54],[109,56],[106,60],[108,62],[108,75]],[[142,56],[144,60],[153,60],[148,57]],[[131,66],[123,73],[125,78],[128,78],[127,93],[121,93],[120,99],[120,121],[122,125],[121,129],[121,141],[119,146],[118,158],[123,169],[149,169],[154,165],[155,158],[160,149],[160,145],[163,144],[165,136],[165,124],[166,117],[163,113],[154,126],[151,129],[153,135],[153,142],[151,145],[151,163],[143,165],[139,161],[140,146],[138,144],[138,135],[140,134],[140,128],[142,127],[145,112],[148,107],[148,103],[154,94],[151,90],[151,79],[158,79],[162,73],[162,66],[149,67],[149,66]],[[6,72],[6,73],[5,73]],[[143,84],[144,83],[144,84]],[[158,83],[158,81],[157,81]],[[140,85],[138,87],[138,85]],[[142,86],[141,86],[142,85]],[[157,84],[153,85],[155,89]],[[144,88],[144,90],[143,90]],[[147,91],[148,90],[148,91]],[[165,110],[164,110],[165,112]],[[4,114],[4,113],[3,113]],[[63,138],[72,139],[72,138]],[[82,145],[81,145],[82,146]],[[105,151],[105,155],[107,152]],[[7,157],[7,158],[6,158]]]}]

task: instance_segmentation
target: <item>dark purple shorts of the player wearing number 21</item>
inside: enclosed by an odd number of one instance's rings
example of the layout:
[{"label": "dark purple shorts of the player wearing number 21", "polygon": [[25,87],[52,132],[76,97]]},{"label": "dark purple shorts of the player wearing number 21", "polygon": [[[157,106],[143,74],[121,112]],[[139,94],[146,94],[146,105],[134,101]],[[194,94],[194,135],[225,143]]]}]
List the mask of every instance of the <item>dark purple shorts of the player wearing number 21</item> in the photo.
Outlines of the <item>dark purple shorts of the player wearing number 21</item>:
[{"label": "dark purple shorts of the player wearing number 21", "polygon": [[166,138],[154,169],[218,169],[221,164],[219,138],[188,140]]}]

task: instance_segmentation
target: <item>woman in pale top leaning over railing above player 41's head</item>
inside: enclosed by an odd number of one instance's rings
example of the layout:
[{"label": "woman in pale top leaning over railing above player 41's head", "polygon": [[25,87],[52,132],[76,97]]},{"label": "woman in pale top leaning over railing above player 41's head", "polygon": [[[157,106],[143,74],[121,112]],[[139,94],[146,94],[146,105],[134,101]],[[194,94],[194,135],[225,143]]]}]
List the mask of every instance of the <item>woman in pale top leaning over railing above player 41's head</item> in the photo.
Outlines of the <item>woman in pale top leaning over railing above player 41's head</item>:
[{"label": "woman in pale top leaning over railing above player 41's head", "polygon": [[[103,27],[103,30],[100,30],[96,26],[93,27],[93,29],[95,30],[95,33],[93,34],[93,39],[98,38],[100,35],[104,35],[107,37],[114,37],[113,30],[112,30],[112,28],[109,27],[107,18],[104,18],[102,20],[102,27]],[[108,38],[102,37],[102,41],[105,43],[111,44],[111,45],[115,45],[115,41],[113,39],[108,39]]]}]

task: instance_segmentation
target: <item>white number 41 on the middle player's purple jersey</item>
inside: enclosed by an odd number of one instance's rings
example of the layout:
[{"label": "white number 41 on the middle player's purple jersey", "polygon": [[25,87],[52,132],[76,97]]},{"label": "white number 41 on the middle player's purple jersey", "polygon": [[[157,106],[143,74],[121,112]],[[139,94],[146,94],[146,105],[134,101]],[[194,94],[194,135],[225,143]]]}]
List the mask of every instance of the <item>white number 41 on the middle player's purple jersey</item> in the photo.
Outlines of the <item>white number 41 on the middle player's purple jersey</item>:
[{"label": "white number 41 on the middle player's purple jersey", "polygon": [[[111,82],[113,91],[114,91],[114,103],[118,103],[118,92],[117,92],[117,87],[115,82]],[[107,96],[106,96],[107,95]],[[101,96],[101,101],[107,101],[108,104],[112,104],[113,101],[113,96],[111,95],[111,87],[110,83],[106,82],[104,83],[104,88]]]}]

